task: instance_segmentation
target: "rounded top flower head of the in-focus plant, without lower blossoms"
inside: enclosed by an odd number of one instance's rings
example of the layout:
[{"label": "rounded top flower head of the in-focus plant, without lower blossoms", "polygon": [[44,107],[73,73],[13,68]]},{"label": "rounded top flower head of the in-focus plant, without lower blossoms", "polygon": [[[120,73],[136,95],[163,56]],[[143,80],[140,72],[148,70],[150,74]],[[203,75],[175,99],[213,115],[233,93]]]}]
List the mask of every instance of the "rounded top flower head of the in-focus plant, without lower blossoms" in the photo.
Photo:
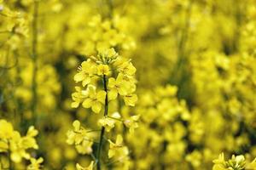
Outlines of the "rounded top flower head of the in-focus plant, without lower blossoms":
[{"label": "rounded top flower head of the in-focus plant, without lower blossoms", "polygon": [[[136,68],[130,60],[126,60],[117,54],[113,48],[100,52],[96,57],[90,56],[79,67],[79,73],[74,76],[75,82],[82,82],[81,89],[76,87],[76,92],[72,94],[74,108],[82,104],[84,108],[91,108],[95,113],[102,111],[106,94],[108,100],[117,99],[118,95],[125,101],[125,105],[134,106],[137,102],[136,79],[134,74]],[[113,75],[116,77],[112,77]],[[101,77],[109,77],[108,92],[97,90],[96,83]]]}]

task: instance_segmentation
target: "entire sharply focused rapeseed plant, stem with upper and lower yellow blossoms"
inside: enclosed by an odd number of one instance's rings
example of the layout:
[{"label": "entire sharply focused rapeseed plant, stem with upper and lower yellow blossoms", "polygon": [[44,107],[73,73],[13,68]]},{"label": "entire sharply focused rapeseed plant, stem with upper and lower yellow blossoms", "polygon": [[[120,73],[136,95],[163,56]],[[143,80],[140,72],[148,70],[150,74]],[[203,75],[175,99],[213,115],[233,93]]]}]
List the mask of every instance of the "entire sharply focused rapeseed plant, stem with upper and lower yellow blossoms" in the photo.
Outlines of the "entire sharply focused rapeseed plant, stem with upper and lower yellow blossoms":
[{"label": "entire sharply focused rapeseed plant, stem with upper and lower yellow blossoms", "polygon": [[[131,133],[138,127],[139,116],[124,119],[118,112],[108,115],[108,106],[115,100],[122,102],[123,99],[126,106],[134,106],[137,103],[135,72],[136,68],[131,64],[131,60],[122,58],[113,48],[108,48],[96,56],[90,56],[79,66],[79,73],[74,76],[74,81],[81,83],[81,86],[76,87],[76,92],[72,94],[72,107],[78,108],[82,105],[84,108],[91,108],[94,113],[100,113],[104,107],[104,114],[97,121],[98,126],[102,127],[96,153],[98,169],[101,166],[100,153],[105,130],[113,133],[112,129],[117,122],[122,122]],[[103,82],[102,89],[99,89],[100,80]],[[75,144],[79,153],[93,154],[92,144],[95,139],[88,135],[84,127],[80,127],[79,121],[73,122],[73,127],[74,130],[67,133],[67,143]],[[123,138],[120,134],[117,135],[116,143],[108,141],[109,158],[115,157],[122,162],[128,160],[129,150],[122,144]]]}]

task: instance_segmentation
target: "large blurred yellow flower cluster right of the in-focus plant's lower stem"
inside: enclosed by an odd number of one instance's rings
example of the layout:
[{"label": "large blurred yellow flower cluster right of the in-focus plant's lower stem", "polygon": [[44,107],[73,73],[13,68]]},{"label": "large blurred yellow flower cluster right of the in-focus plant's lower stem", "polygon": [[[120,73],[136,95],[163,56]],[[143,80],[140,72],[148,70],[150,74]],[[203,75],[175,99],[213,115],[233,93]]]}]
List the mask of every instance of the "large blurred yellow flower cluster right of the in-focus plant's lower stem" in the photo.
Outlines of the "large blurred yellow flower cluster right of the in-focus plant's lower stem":
[{"label": "large blurred yellow flower cluster right of the in-focus plant's lower stem", "polygon": [[[137,165],[133,168],[148,169],[157,164],[183,168],[179,160],[185,156],[188,147],[184,140],[188,130],[184,124],[189,123],[191,113],[176,95],[177,87],[171,85],[154,88],[141,95],[137,114],[141,115],[142,122],[135,133],[127,135],[129,144],[137,148],[134,153]],[[160,159],[154,159],[155,155],[160,155]]]}]

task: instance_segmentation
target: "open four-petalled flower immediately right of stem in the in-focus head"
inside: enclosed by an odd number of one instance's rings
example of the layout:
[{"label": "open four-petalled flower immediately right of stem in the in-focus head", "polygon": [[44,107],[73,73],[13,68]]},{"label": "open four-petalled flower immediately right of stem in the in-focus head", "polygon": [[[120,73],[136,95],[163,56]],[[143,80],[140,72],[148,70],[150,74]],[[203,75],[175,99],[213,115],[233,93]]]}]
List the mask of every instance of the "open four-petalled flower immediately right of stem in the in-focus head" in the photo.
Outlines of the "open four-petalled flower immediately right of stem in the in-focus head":
[{"label": "open four-petalled flower immediately right of stem in the in-focus head", "polygon": [[130,85],[124,80],[123,75],[119,74],[116,80],[113,77],[108,79],[108,88],[108,99],[112,100],[116,99],[118,94],[122,96],[128,94]]}]

